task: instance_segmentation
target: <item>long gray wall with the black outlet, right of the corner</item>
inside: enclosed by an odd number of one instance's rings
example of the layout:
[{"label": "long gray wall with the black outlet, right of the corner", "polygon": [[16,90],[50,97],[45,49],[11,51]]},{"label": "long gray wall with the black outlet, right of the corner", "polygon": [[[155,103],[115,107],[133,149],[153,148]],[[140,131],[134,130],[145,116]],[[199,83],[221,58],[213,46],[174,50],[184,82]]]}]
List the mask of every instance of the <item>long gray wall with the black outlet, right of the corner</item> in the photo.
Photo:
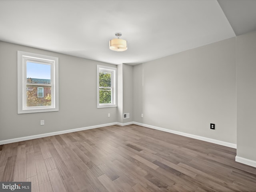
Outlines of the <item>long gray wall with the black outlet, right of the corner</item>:
[{"label": "long gray wall with the black outlet, right of the corner", "polygon": [[134,121],[236,144],[235,63],[231,38],[134,66]]}]

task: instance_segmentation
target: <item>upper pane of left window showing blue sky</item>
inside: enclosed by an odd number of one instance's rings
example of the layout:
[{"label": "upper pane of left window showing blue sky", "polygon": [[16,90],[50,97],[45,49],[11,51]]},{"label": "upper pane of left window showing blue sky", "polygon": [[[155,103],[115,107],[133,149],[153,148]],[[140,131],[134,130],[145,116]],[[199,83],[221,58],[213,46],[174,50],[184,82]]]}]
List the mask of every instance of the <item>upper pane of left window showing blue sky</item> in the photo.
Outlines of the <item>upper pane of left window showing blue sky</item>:
[{"label": "upper pane of left window showing blue sky", "polygon": [[50,84],[51,66],[35,62],[26,62],[27,83]]}]

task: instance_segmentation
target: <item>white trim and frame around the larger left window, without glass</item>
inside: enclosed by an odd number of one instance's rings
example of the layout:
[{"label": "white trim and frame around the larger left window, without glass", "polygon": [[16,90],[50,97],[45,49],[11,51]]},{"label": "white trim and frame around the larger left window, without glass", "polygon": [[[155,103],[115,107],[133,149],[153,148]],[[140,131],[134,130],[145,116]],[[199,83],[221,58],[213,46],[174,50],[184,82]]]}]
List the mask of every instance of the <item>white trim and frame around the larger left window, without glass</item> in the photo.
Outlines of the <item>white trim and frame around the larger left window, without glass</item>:
[{"label": "white trim and frame around the larger left window, without glass", "polygon": [[[59,110],[58,91],[58,58],[35,53],[18,51],[18,114],[51,112]],[[26,106],[26,60],[34,62],[45,62],[51,65],[51,106]]]}]

